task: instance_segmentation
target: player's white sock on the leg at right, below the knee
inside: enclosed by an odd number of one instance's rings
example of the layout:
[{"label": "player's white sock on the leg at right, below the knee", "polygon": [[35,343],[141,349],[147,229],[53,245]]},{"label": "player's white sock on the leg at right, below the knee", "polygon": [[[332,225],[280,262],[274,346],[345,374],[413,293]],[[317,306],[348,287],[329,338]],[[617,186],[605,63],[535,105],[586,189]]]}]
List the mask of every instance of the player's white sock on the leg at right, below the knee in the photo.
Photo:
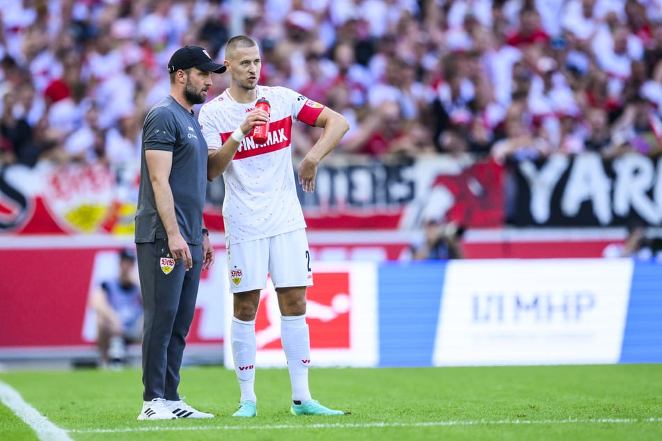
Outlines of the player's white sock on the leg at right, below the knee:
[{"label": "player's white sock on the leg at right, below the knee", "polygon": [[308,367],[310,366],[310,333],[306,316],[281,316],[281,343],[287,370],[290,371],[292,383],[292,400],[308,401],[310,389],[308,387]]}]

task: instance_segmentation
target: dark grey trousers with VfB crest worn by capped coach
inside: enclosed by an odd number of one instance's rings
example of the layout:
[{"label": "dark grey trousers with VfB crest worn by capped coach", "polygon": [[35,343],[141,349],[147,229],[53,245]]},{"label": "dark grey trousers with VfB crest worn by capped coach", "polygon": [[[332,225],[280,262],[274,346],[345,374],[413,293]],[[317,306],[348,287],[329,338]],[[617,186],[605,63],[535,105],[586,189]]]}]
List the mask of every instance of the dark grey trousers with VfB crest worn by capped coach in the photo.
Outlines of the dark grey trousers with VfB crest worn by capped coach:
[{"label": "dark grey trousers with VfB crest worn by capped coach", "polygon": [[202,245],[191,245],[193,268],[178,263],[167,274],[161,257],[170,253],[167,239],[136,243],[145,311],[143,331],[143,400],[178,400],[185,338],[196,311],[203,264]]}]

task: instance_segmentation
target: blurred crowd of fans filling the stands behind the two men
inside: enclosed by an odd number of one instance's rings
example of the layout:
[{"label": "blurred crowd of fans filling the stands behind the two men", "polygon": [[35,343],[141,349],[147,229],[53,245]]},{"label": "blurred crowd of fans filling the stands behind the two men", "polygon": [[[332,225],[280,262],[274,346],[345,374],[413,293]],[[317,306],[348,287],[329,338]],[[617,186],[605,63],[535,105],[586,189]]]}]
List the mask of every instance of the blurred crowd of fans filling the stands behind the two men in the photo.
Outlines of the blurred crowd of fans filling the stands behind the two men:
[{"label": "blurred crowd of fans filling the stands behind the two men", "polygon": [[[233,10],[237,5],[240,9]],[[261,83],[344,114],[377,159],[662,151],[662,0],[0,0],[0,165],[139,161],[182,45],[241,17]],[[210,97],[228,86],[214,77]],[[305,153],[315,128],[298,127]],[[337,151],[338,151],[337,150]]]}]

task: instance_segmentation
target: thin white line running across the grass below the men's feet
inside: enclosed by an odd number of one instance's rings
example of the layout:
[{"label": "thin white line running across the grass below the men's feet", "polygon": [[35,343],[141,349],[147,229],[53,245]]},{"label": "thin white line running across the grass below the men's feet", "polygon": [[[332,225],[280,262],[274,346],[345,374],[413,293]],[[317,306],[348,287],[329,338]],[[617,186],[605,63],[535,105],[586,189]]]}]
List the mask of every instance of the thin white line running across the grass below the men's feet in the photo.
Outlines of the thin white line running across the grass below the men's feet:
[{"label": "thin white line running across the grass below the men's feet", "polygon": [[[251,429],[257,430],[274,430],[274,429],[290,429],[290,428],[379,428],[379,427],[430,427],[430,426],[480,426],[496,424],[630,424],[630,423],[661,423],[662,418],[602,418],[602,419],[542,419],[539,421],[528,421],[523,419],[499,419],[496,421],[488,421],[484,419],[476,419],[473,421],[432,421],[420,423],[363,423],[363,424],[306,424],[296,426],[294,424],[278,424],[272,426],[253,426]],[[176,423],[175,423],[176,424]],[[70,433],[127,433],[127,432],[158,432],[158,431],[245,431],[246,426],[149,426],[149,427],[127,427],[127,428],[91,428],[82,430],[70,430]]]}]

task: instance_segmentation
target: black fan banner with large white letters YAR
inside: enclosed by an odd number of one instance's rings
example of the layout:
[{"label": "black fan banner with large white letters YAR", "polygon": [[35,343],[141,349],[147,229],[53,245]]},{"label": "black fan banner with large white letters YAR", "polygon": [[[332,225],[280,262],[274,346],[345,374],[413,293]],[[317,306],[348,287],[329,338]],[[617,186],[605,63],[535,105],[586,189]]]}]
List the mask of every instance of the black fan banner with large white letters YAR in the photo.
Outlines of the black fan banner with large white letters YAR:
[{"label": "black fan banner with large white letters YAR", "polygon": [[662,157],[585,153],[512,164],[517,226],[662,225]]}]

